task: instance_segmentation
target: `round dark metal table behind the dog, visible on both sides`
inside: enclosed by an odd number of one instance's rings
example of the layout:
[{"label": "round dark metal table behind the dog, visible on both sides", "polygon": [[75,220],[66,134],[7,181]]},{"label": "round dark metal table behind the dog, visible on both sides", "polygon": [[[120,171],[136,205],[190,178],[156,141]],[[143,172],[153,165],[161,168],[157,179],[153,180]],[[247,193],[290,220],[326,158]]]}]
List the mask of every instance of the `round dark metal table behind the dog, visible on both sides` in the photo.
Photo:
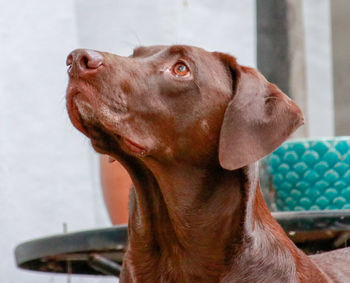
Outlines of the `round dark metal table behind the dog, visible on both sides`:
[{"label": "round dark metal table behind the dog, visible on both sides", "polygon": [[[273,212],[287,232],[350,231],[350,210]],[[119,276],[127,226],[67,233],[20,244],[18,267],[56,273]]]}]

